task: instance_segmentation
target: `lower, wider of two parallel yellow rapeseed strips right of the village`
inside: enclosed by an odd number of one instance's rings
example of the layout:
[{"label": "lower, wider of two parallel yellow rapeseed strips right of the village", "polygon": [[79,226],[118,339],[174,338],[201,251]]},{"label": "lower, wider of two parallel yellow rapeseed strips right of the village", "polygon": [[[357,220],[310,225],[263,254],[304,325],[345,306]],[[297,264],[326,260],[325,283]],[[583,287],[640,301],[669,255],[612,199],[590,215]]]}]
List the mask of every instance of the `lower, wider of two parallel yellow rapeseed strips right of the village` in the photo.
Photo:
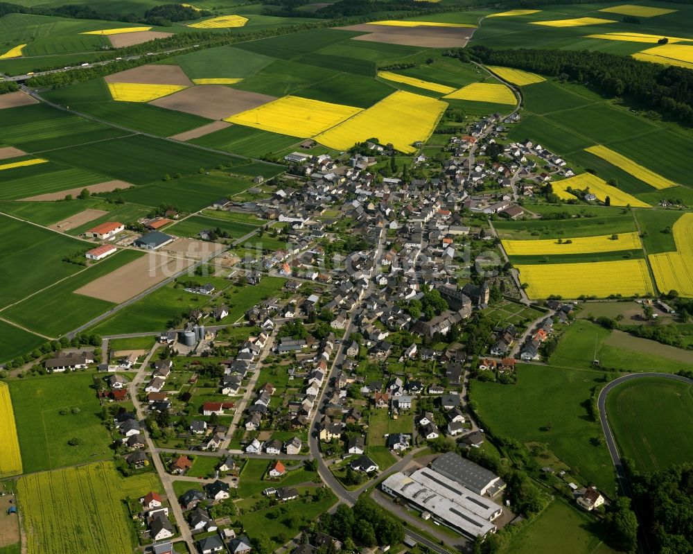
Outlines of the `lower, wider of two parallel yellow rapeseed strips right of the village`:
[{"label": "lower, wider of two parallel yellow rapeseed strips right of the village", "polygon": [[515,266],[520,282],[529,287],[530,298],[561,295],[608,297],[613,294],[633,296],[652,294],[652,283],[644,259],[597,261],[588,263],[539,263]]}]

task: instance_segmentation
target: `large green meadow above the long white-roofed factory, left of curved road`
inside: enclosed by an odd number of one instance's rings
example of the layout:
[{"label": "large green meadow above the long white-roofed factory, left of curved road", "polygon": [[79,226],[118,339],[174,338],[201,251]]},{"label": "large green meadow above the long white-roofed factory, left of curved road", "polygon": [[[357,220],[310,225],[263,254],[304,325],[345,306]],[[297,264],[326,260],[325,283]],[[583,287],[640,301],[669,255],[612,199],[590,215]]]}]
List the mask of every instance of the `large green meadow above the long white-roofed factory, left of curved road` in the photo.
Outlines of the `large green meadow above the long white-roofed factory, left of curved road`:
[{"label": "large green meadow above the long white-roofed factory, left of curved road", "polygon": [[602,429],[588,413],[592,390],[602,378],[602,372],[522,365],[516,386],[473,381],[470,397],[493,433],[546,443],[572,474],[613,494],[611,458],[596,442]]}]

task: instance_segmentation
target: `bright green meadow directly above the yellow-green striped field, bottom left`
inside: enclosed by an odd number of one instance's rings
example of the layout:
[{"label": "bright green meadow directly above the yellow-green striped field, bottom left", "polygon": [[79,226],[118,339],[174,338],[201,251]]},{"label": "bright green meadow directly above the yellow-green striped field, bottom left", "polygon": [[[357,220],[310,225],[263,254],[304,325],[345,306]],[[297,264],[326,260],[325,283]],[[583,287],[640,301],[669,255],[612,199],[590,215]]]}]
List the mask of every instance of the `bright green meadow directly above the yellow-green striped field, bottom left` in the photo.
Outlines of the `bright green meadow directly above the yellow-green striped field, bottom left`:
[{"label": "bright green meadow directly above the yellow-green striped field, bottom left", "polygon": [[[26,473],[112,457],[93,376],[78,372],[9,381]],[[71,413],[73,408],[79,413]],[[62,409],[67,414],[61,415]],[[73,437],[80,439],[78,447],[67,444]]]}]

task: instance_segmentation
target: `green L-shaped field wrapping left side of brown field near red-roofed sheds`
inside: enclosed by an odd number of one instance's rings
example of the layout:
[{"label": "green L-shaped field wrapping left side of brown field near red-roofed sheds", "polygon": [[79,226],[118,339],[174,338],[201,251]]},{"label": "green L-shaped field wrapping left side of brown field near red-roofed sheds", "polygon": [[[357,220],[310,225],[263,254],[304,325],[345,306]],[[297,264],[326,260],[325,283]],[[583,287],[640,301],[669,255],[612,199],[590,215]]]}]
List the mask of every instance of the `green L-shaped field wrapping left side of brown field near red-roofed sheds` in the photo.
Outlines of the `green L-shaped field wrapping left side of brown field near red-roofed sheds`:
[{"label": "green L-shaped field wrapping left side of brown field near red-roofed sheds", "polygon": [[116,252],[96,265],[46,288],[0,314],[27,329],[47,336],[57,337],[66,334],[115,305],[98,298],[75,294],[73,291],[143,255],[144,252],[134,250]]}]

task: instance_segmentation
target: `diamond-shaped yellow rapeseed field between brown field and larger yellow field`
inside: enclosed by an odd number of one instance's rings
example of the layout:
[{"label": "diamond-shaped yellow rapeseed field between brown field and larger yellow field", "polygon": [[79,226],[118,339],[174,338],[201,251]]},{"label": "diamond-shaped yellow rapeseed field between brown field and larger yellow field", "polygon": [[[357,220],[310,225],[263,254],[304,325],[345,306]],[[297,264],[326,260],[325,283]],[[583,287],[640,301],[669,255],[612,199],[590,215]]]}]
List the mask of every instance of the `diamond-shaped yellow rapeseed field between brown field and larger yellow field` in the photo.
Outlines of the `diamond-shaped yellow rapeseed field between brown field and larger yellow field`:
[{"label": "diamond-shaped yellow rapeseed field between brown field and larger yellow field", "polygon": [[332,104],[299,96],[284,96],[254,107],[252,110],[232,115],[225,121],[305,139],[334,127],[337,123],[361,111],[360,107]]}]

